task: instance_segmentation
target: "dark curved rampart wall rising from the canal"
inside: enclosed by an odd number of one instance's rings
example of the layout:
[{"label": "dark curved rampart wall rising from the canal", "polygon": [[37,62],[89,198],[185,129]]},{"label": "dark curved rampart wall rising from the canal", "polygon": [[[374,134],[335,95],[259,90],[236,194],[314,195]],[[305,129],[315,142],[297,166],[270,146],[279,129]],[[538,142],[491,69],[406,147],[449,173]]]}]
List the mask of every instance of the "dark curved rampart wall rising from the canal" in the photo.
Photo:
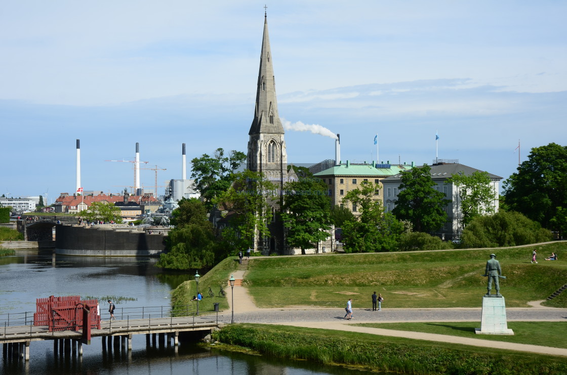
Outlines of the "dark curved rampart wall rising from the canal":
[{"label": "dark curved rampart wall rising from the canal", "polygon": [[56,225],[55,252],[65,255],[148,256],[159,255],[166,246],[164,236],[145,231],[116,231],[77,225]]}]

